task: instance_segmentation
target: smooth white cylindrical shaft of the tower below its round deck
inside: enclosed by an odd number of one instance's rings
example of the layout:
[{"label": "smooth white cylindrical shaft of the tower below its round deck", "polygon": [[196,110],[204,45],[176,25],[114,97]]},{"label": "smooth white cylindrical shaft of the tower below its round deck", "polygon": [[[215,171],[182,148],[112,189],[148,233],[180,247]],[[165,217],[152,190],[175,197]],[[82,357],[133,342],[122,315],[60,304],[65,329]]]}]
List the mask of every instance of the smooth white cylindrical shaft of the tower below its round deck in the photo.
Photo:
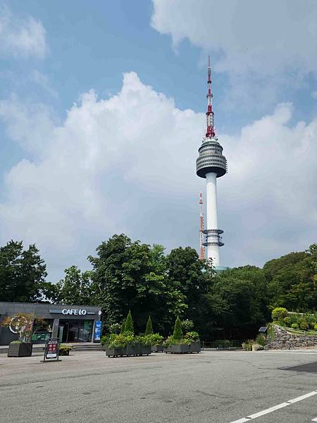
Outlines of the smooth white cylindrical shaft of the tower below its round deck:
[{"label": "smooth white cylindrical shaft of the tower below its round deck", "polygon": [[[217,207],[217,174],[206,173],[206,211],[207,230],[218,229]],[[212,241],[213,236],[207,235],[207,241]],[[220,266],[219,245],[208,245],[207,257],[212,259],[213,266]]]}]

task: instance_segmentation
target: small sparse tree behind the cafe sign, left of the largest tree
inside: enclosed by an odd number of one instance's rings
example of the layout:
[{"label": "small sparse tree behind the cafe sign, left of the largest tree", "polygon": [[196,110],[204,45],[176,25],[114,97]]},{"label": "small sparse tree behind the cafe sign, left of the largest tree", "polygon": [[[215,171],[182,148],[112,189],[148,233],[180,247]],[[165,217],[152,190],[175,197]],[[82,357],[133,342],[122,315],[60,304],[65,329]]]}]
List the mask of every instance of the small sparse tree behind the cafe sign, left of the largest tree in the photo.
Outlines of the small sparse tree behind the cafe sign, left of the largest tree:
[{"label": "small sparse tree behind the cafe sign, left of the largest tree", "polygon": [[80,271],[77,266],[65,269],[65,276],[56,283],[55,302],[61,304],[97,305],[96,286],[90,271]]}]

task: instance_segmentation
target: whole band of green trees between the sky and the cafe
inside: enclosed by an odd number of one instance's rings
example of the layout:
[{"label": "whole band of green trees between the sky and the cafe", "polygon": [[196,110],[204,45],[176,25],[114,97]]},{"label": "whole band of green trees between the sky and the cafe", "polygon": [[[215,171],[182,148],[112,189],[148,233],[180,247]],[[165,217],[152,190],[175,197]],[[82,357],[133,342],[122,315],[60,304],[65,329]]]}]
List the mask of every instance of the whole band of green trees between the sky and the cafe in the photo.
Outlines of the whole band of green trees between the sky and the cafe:
[{"label": "whole band of green trees between the sky and the cafe", "polygon": [[317,245],[272,259],[263,268],[242,266],[216,274],[196,250],[142,244],[113,235],[88,257],[90,271],[70,266],[58,283],[46,281],[35,245],[11,241],[0,248],[0,301],[49,301],[101,305],[104,331],[131,310],[135,331],[151,316],[168,335],[176,317],[193,321],[205,340],[251,338],[271,319],[272,309],[315,312]]}]

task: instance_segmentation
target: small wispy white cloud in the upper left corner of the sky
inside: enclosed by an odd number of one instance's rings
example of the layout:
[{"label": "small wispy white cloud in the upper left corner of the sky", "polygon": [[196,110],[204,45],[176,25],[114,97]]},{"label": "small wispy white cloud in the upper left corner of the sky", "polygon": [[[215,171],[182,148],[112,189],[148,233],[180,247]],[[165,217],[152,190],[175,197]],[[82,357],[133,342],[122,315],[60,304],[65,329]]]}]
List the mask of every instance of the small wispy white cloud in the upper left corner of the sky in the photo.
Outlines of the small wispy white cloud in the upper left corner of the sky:
[{"label": "small wispy white cloud in the upper left corner of the sky", "polygon": [[47,47],[45,30],[32,16],[13,16],[5,6],[0,8],[0,52],[15,58],[43,59]]}]

